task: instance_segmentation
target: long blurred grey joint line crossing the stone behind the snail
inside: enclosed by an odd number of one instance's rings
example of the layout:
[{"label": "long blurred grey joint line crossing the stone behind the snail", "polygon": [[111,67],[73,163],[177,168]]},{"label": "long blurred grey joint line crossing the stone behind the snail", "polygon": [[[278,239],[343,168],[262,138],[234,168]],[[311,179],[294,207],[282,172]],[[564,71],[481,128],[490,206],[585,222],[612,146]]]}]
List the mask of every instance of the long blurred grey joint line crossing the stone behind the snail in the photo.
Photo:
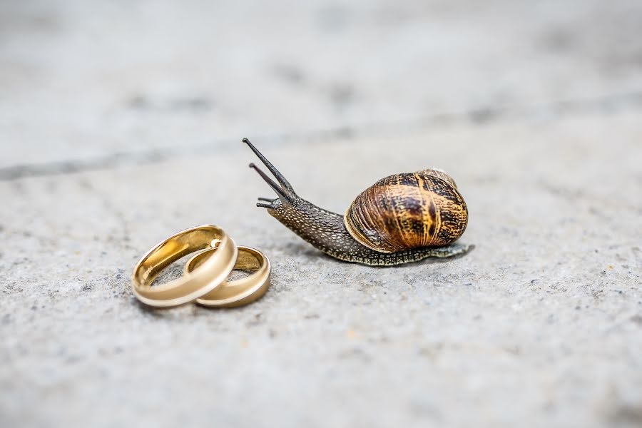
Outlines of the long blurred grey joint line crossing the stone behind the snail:
[{"label": "long blurred grey joint line crossing the stone behind the snail", "polygon": [[[429,126],[449,126],[460,123],[486,125],[496,121],[526,120],[529,118],[559,119],[566,115],[581,115],[587,113],[615,113],[621,111],[637,111],[642,109],[642,91],[615,93],[596,98],[571,99],[531,106],[504,106],[476,108],[469,111],[454,113],[436,113],[430,116],[420,116],[402,121],[361,123],[337,126],[326,130],[307,131],[301,133],[283,133],[273,136],[255,136],[262,145],[287,145],[295,141],[310,143],[327,142],[335,138],[343,140],[355,136],[382,136],[400,133],[414,133]],[[11,165],[0,168],[0,181],[14,181],[21,178],[39,177],[44,175],[66,175],[90,170],[108,170],[124,165],[146,165],[161,163],[169,159],[203,156],[203,154],[229,150],[236,147],[240,150],[238,141],[229,138],[216,140],[207,144],[198,143],[180,147],[157,147],[145,151],[110,153],[86,159],[67,159],[39,164]],[[345,141],[344,141],[345,142]],[[185,150],[186,148],[190,150]]]}]

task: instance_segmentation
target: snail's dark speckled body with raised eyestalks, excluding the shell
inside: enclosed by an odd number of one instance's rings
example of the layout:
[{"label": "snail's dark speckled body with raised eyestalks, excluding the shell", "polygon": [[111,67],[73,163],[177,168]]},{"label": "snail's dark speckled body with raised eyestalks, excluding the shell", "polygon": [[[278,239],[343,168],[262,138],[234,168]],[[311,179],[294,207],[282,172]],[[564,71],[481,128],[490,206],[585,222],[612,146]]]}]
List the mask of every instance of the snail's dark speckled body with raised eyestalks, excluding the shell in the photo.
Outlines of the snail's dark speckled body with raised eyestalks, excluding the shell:
[{"label": "snail's dark speckled body with raised eyestalks, excluding the shell", "polygon": [[345,228],[343,215],[332,213],[307,202],[297,196],[292,185],[285,177],[261,154],[246,138],[243,142],[248,144],[256,153],[268,170],[275,176],[278,184],[263,173],[254,164],[254,168],[263,177],[263,180],[275,190],[278,198],[259,198],[264,203],[257,203],[261,208],[276,218],[292,232],[312,244],[323,253],[352,263],[361,263],[371,266],[393,266],[404,263],[417,262],[425,258],[448,258],[467,253],[472,246],[447,245],[442,247],[410,248],[394,253],[381,253],[368,248],[352,238]]}]

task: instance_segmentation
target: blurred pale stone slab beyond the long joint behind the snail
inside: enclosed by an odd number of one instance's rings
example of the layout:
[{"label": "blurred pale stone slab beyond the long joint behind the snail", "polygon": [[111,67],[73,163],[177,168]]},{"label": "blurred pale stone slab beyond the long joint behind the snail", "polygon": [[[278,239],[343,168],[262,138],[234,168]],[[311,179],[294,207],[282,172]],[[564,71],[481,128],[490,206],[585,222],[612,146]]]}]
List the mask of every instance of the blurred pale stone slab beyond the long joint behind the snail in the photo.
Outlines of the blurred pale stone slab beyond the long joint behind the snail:
[{"label": "blurred pale stone slab beyond the long joint behind the snail", "polygon": [[636,0],[4,0],[0,16],[3,175],[642,102]]}]

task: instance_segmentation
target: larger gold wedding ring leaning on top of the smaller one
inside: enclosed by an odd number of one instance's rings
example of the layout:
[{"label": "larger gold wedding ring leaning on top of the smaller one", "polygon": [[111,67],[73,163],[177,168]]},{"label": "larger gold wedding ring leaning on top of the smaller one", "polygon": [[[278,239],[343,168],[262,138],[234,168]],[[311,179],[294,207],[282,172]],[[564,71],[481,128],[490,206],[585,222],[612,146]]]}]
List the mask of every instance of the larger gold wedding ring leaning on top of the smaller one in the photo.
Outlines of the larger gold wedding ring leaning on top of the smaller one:
[{"label": "larger gold wedding ring leaning on top of the smaller one", "polygon": [[[203,249],[215,251],[198,270],[188,272],[178,280],[151,287],[165,267]],[[237,256],[236,243],[218,226],[202,225],[181,230],[158,243],[136,263],[131,276],[133,293],[138,300],[154,307],[183,305],[221,285],[232,272]]]}]

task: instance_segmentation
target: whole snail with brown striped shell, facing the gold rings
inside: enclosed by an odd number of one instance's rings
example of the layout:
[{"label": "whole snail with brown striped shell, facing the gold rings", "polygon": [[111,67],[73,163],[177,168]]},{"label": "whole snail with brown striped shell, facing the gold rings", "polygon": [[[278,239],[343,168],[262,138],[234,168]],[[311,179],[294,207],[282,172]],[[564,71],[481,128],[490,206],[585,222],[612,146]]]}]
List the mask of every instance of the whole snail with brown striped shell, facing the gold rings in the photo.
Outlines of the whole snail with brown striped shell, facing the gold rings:
[{"label": "whole snail with brown striped shell, facing the gold rings", "polygon": [[340,215],[300,198],[248,138],[243,143],[276,178],[275,182],[250,163],[278,195],[258,198],[256,206],[267,208],[272,217],[333,258],[392,266],[462,255],[472,248],[452,244],[466,229],[468,209],[454,180],[442,170],[382,178],[357,195],[345,215]]}]

